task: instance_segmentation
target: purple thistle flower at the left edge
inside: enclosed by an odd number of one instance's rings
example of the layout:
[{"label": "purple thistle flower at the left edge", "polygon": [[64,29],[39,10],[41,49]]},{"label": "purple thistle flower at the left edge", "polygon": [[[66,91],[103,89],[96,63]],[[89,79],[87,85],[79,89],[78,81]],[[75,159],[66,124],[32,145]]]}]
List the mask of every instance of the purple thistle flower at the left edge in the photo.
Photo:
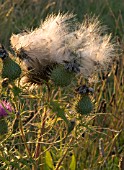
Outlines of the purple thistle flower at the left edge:
[{"label": "purple thistle flower at the left edge", "polygon": [[7,101],[1,101],[0,103],[0,118],[8,115],[8,112],[12,112],[12,106]]}]

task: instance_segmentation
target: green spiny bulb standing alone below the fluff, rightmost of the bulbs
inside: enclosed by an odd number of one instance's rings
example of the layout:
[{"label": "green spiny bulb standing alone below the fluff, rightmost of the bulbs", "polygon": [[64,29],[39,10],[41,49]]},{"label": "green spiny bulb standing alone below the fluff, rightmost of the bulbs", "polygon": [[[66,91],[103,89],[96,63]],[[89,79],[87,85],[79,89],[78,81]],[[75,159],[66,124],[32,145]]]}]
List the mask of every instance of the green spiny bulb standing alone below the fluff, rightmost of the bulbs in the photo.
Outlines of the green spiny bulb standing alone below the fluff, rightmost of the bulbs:
[{"label": "green spiny bulb standing alone below the fluff, rightmost of the bulbs", "polygon": [[82,115],[87,115],[93,110],[93,104],[88,95],[83,95],[76,104],[76,111]]}]

